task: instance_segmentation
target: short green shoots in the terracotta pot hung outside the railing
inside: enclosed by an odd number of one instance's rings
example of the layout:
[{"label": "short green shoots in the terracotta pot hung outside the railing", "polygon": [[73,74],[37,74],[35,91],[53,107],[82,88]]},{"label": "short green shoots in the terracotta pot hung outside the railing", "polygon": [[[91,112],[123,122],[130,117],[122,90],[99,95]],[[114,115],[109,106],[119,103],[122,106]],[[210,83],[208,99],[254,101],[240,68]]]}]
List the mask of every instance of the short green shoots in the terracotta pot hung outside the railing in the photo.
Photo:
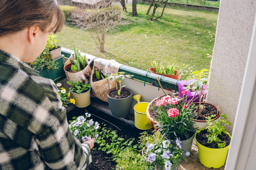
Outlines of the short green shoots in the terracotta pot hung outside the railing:
[{"label": "short green shoots in the terracotta pot hung outside the railing", "polygon": [[151,65],[153,66],[153,68],[155,68],[155,72],[156,73],[168,74],[168,75],[178,75],[178,74],[182,73],[182,69],[180,69],[179,71],[175,72],[175,65],[174,65],[174,63],[172,63],[172,65],[170,63],[167,63],[166,66],[162,66],[162,61],[161,61],[160,65],[159,65],[158,62],[156,62],[155,59],[154,59],[153,62],[151,63]]}]

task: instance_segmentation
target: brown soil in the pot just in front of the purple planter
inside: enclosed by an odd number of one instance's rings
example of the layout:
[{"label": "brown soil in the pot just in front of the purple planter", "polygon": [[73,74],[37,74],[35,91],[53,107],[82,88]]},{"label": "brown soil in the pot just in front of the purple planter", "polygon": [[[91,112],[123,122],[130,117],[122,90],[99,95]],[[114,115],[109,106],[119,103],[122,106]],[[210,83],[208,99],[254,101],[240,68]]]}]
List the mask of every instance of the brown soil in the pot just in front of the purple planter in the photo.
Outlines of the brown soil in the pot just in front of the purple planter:
[{"label": "brown soil in the pot just in front of the purple planter", "polygon": [[210,105],[208,103],[206,104],[203,104],[203,109],[202,109],[202,112],[200,112],[200,108],[199,108],[199,104],[197,104],[197,109],[195,109],[193,111],[193,113],[195,114],[195,117],[193,119],[195,120],[206,120],[206,117],[207,116],[211,116],[211,115],[218,115],[220,114],[218,112],[218,110],[213,106],[213,105]]}]

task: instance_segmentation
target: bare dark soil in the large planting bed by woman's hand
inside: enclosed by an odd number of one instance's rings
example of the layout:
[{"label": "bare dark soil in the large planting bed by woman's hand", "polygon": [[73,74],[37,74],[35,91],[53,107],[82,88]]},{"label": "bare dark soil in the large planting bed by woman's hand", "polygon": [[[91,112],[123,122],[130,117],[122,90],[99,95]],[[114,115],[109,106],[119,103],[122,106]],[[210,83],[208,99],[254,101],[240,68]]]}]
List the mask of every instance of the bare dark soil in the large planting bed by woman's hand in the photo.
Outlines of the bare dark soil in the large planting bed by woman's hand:
[{"label": "bare dark soil in the large planting bed by woman's hand", "polygon": [[[101,112],[95,111],[91,109],[90,107],[87,107],[87,110],[84,108],[76,108],[72,111],[70,111],[67,114],[67,120],[72,120],[73,116],[84,116],[84,113],[88,112],[91,115],[91,119],[93,121],[98,121],[100,123],[100,127],[111,129],[111,130],[116,130],[116,134],[118,134],[118,137],[124,138],[124,140],[127,140],[129,138],[135,138],[135,141],[138,141],[138,137],[140,136],[140,133],[143,132],[144,130],[137,129],[136,127],[132,127],[130,125],[126,125],[123,121],[120,121],[119,119],[116,119],[112,116],[109,116],[107,114],[103,114]],[[98,117],[100,118],[98,118]],[[102,119],[103,120],[102,120]],[[108,121],[108,122],[107,122]],[[110,123],[114,124],[110,124]],[[106,124],[106,126],[103,126],[103,124]],[[118,129],[118,128],[119,129]],[[136,144],[136,143],[133,143]],[[98,144],[94,143],[94,147],[91,151],[92,153],[92,163],[88,166],[86,170],[112,170],[116,166],[116,162],[112,160],[112,154],[111,153],[106,153],[104,151],[98,150]]]}]

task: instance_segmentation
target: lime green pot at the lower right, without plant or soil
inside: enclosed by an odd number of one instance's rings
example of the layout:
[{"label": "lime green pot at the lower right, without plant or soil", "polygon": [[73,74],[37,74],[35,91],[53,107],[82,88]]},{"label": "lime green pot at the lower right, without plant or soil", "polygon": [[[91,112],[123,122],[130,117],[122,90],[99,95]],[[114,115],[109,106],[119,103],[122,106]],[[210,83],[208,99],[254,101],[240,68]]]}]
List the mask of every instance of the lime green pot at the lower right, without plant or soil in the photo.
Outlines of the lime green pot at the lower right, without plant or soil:
[{"label": "lime green pot at the lower right, without plant or soil", "polygon": [[[199,161],[206,167],[219,168],[225,164],[230,145],[226,146],[225,148],[208,148],[203,146],[197,141],[197,135],[201,130],[204,129],[205,128],[198,130],[195,134],[195,140],[198,146]],[[228,132],[226,132],[226,134],[228,134],[231,138],[231,135]]]}]

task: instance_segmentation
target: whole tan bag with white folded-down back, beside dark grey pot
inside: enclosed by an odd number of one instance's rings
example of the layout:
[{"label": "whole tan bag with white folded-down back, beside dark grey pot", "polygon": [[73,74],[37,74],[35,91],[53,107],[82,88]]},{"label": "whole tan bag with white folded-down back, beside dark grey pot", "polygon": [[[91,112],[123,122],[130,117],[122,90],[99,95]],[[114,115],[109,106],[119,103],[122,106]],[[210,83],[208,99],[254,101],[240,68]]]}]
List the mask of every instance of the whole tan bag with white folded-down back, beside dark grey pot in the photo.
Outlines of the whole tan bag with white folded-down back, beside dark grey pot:
[{"label": "whole tan bag with white folded-down back, beside dark grey pot", "polygon": [[119,64],[114,60],[105,60],[100,58],[94,59],[94,65],[90,78],[90,84],[92,86],[91,94],[93,96],[99,98],[102,101],[107,102],[107,91],[109,91],[112,88],[115,88],[117,84],[116,80],[110,82],[109,78],[97,82],[92,82],[93,74],[95,74],[95,72],[98,71],[104,74],[105,76],[109,76],[112,73],[117,73],[121,65],[122,64]]}]

